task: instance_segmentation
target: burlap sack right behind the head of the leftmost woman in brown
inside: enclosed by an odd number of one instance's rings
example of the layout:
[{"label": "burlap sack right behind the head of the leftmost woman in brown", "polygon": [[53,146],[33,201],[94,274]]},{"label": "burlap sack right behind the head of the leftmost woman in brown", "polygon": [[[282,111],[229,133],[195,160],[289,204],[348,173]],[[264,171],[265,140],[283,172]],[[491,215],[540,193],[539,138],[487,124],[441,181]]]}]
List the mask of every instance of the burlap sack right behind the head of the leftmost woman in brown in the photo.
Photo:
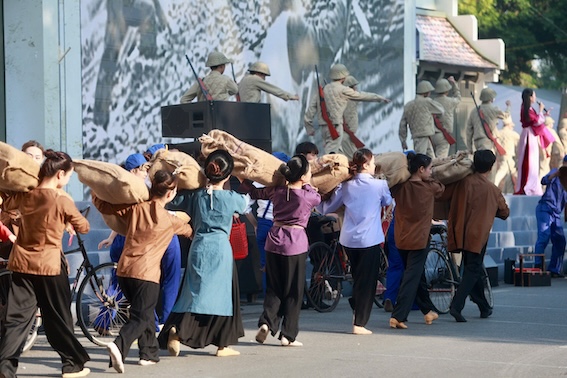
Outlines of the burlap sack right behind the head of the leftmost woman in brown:
[{"label": "burlap sack right behind the head of the leftmost woman in brown", "polygon": [[140,203],[150,198],[144,181],[116,164],[75,160],[73,165],[79,181],[103,201],[119,205]]}]

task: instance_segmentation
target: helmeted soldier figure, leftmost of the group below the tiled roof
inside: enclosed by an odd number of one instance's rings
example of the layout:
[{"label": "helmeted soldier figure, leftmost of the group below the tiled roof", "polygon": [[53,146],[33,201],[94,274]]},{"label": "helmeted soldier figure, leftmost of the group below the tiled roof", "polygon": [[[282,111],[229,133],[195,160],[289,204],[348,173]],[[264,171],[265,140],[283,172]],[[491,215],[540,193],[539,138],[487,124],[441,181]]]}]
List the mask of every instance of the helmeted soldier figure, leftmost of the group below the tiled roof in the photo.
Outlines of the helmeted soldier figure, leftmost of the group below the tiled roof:
[{"label": "helmeted soldier figure, leftmost of the group below the tiled roof", "polygon": [[431,144],[431,138],[435,135],[433,115],[443,115],[445,112],[440,103],[429,97],[434,89],[428,81],[421,81],[417,84],[415,99],[404,106],[399,128],[400,142],[404,150],[408,149],[406,139],[409,126],[414,151],[432,158],[435,157]]}]

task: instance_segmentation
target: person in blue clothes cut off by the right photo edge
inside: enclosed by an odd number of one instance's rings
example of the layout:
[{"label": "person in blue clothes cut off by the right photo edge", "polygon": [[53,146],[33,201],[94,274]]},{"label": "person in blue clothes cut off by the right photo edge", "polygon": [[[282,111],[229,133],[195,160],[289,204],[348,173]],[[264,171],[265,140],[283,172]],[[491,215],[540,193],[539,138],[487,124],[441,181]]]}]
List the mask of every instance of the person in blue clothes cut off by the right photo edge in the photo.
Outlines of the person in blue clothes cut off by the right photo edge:
[{"label": "person in blue clothes cut off by the right photo edge", "polygon": [[[563,158],[563,166],[567,166],[567,155]],[[545,247],[551,240],[551,260],[547,270],[551,277],[564,277],[563,254],[565,253],[565,234],[561,224],[561,213],[567,203],[567,192],[559,181],[559,170],[552,169],[541,179],[545,185],[545,193],[536,207],[537,241],[535,253],[545,253]],[[542,264],[541,257],[536,257],[535,265]]]}]

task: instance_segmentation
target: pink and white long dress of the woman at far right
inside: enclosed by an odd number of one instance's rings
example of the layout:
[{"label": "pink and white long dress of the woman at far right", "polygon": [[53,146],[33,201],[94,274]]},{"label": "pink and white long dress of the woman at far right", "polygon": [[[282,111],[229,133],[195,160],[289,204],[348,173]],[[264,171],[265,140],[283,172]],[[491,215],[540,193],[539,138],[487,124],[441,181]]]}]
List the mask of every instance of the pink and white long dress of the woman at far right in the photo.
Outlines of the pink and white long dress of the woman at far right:
[{"label": "pink and white long dress of the woman at far right", "polygon": [[530,108],[529,117],[520,114],[522,134],[518,144],[518,179],[514,194],[541,196],[543,189],[539,180],[539,146],[545,150],[555,141],[553,135],[545,127],[545,116],[537,114]]}]

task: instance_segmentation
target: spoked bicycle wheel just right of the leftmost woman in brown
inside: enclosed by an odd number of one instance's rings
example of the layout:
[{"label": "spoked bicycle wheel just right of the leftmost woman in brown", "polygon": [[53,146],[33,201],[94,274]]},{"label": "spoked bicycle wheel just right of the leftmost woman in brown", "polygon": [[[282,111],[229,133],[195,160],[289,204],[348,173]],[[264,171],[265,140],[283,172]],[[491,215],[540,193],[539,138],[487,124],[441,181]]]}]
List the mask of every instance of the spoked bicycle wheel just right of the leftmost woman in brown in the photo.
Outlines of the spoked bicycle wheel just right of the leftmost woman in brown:
[{"label": "spoked bicycle wheel just right of the leftmost woman in brown", "polygon": [[115,263],[97,266],[81,282],[77,293],[77,321],[96,345],[114,341],[128,321],[130,304],[118,286]]}]

